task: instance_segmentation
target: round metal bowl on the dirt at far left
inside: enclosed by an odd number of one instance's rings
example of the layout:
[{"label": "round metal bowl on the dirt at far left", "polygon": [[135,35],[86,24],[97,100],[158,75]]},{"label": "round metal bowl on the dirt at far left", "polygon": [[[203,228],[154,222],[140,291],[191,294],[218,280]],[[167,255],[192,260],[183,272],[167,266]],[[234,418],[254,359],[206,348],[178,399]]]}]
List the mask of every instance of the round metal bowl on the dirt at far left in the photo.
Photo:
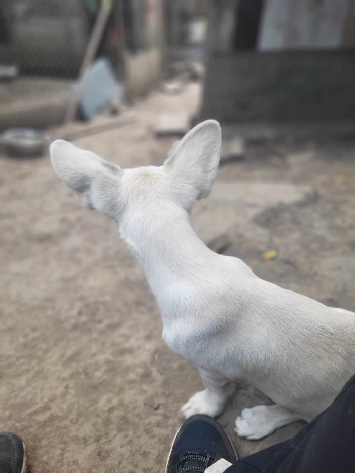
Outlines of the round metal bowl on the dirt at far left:
[{"label": "round metal bowl on the dirt at far left", "polygon": [[11,128],[0,135],[0,144],[10,156],[41,156],[49,142],[45,131],[31,128]]}]

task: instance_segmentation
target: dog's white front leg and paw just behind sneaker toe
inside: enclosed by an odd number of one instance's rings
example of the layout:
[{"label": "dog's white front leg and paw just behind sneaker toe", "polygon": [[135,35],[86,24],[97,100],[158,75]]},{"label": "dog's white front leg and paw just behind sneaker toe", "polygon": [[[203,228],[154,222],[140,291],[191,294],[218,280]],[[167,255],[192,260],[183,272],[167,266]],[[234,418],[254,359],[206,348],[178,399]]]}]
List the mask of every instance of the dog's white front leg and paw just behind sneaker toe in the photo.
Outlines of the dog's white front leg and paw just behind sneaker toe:
[{"label": "dog's white front leg and paw just behind sneaker toe", "polygon": [[200,368],[198,371],[206,389],[196,392],[181,408],[181,413],[186,419],[194,414],[217,417],[222,413],[229,397],[234,392],[235,383],[218,373]]}]

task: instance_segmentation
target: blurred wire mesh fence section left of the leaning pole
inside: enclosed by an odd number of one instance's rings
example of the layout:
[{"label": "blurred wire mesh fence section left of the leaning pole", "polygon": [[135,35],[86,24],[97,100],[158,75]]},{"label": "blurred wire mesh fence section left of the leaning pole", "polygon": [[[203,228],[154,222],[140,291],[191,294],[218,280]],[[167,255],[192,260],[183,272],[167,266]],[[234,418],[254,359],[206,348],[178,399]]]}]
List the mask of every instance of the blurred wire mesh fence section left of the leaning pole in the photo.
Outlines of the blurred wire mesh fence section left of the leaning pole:
[{"label": "blurred wire mesh fence section left of the leaning pole", "polygon": [[94,21],[92,2],[2,0],[2,63],[21,74],[75,77]]}]

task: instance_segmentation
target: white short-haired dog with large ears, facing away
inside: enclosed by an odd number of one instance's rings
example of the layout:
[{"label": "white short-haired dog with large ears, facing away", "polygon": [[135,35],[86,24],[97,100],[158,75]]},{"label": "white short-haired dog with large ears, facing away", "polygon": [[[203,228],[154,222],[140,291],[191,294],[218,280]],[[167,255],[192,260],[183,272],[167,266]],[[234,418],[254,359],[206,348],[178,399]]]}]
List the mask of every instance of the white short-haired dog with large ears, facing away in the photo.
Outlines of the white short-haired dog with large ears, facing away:
[{"label": "white short-haired dog with large ears, facing away", "polygon": [[117,222],[158,302],[165,342],[197,366],[205,389],[183,415],[218,416],[242,379],[276,403],[236,419],[240,436],[260,439],[330,405],[355,372],[355,314],[263,281],[202,243],[189,211],[209,195],[220,149],[220,126],[207,120],[158,167],[121,169],[63,140],[51,158],[84,206]]}]

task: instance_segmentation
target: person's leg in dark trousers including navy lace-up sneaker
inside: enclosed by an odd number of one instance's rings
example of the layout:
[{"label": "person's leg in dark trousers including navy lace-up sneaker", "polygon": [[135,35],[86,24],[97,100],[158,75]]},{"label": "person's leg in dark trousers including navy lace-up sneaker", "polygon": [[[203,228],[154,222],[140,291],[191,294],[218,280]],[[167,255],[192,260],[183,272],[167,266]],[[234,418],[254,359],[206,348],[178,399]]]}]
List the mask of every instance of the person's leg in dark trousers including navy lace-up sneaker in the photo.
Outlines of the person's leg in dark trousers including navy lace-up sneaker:
[{"label": "person's leg in dark trousers including navy lace-up sneaker", "polygon": [[[350,473],[355,471],[355,375],[333,404],[291,440],[233,461],[233,446],[218,423],[193,416],[180,428],[167,473]],[[191,451],[193,449],[193,451]],[[220,458],[227,460],[219,460]],[[196,469],[197,468],[197,469]]]}]

